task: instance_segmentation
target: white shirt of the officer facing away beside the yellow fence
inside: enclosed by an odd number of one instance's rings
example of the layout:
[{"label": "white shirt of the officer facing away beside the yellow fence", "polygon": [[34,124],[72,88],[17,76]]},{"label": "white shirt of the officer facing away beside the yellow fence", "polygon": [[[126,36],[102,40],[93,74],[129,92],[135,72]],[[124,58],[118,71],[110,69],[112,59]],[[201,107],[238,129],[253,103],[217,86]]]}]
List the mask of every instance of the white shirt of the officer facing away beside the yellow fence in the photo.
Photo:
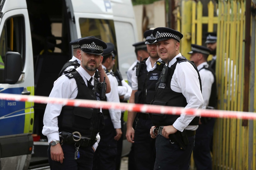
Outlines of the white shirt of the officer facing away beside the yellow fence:
[{"label": "white shirt of the officer facing away beside the yellow fence", "polygon": [[202,82],[202,95],[203,95],[203,107],[206,109],[209,104],[211,95],[211,86],[214,83],[214,75],[208,69],[202,69],[205,65],[208,66],[207,62],[203,62],[197,66]]}]

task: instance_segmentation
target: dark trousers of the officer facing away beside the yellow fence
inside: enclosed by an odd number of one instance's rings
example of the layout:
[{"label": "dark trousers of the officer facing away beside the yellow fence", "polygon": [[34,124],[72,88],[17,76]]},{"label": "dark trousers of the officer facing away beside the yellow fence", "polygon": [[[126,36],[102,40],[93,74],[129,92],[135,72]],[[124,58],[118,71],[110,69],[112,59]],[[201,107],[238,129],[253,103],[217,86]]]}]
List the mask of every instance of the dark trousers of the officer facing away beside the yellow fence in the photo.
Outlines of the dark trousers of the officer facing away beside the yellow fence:
[{"label": "dark trousers of the officer facing away beside the yellow fence", "polygon": [[197,170],[211,170],[211,142],[215,118],[211,118],[207,124],[200,124],[196,130],[193,158]]}]

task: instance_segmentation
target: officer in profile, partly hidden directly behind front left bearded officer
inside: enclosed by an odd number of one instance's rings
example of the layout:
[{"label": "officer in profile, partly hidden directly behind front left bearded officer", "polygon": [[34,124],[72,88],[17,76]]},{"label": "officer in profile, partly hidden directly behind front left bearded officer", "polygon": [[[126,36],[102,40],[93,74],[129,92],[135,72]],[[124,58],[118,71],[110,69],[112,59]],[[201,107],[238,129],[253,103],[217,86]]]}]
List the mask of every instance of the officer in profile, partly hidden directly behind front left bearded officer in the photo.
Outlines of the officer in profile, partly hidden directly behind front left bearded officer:
[{"label": "officer in profile, partly hidden directly behind front left bearded officer", "polygon": [[[107,48],[103,52],[102,67],[108,76],[111,85],[110,93],[106,94],[106,100],[120,103],[117,91],[118,82],[116,77],[108,70],[113,67],[113,44],[107,43]],[[105,127],[100,131],[101,137],[98,149],[94,155],[93,170],[116,170],[117,141],[122,135],[121,131],[121,110],[103,110]]]}]

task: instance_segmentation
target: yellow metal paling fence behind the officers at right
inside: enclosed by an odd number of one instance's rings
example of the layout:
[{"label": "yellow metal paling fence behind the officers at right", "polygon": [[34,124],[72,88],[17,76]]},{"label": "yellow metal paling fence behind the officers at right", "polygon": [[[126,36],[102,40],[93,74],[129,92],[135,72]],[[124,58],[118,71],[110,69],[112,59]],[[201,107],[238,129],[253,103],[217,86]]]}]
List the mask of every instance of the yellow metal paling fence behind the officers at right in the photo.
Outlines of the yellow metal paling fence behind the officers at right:
[{"label": "yellow metal paling fence behind the officers at right", "polygon": [[[206,5],[208,15],[204,16]],[[217,4],[181,1],[177,13],[177,30],[184,35],[181,54],[190,51],[191,43],[204,45],[203,25],[207,25],[208,32],[217,29],[217,109],[251,112],[256,109],[255,22],[254,0],[219,0]],[[255,123],[254,120],[217,119],[213,169],[256,169]]]}]

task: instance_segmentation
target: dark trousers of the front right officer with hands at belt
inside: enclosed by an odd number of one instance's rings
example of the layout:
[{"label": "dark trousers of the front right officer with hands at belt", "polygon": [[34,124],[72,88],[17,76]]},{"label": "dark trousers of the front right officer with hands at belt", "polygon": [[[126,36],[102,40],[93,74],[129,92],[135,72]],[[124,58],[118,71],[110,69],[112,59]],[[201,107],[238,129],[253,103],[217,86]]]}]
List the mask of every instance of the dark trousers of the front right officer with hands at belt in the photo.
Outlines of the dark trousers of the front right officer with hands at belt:
[{"label": "dark trousers of the front right officer with hands at belt", "polygon": [[181,150],[178,144],[170,143],[170,139],[157,135],[154,170],[188,170],[195,136],[188,137],[188,140],[186,150]]}]

